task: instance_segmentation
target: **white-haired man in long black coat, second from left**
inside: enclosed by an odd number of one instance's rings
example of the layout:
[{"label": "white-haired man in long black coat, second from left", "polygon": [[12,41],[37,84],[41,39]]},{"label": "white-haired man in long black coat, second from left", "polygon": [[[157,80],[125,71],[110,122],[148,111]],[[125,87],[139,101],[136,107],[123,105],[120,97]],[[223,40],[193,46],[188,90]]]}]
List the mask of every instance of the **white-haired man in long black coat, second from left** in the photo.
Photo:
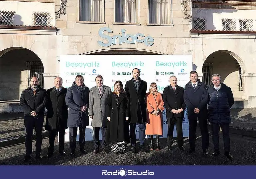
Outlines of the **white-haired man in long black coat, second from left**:
[{"label": "white-haired man in long black coat, second from left", "polygon": [[54,78],[54,87],[47,90],[47,115],[45,130],[49,131],[49,148],[47,157],[51,157],[54,152],[54,141],[56,132],[59,131],[59,153],[65,155],[64,135],[67,129],[67,105],[65,97],[67,89],[62,87],[62,78]]}]

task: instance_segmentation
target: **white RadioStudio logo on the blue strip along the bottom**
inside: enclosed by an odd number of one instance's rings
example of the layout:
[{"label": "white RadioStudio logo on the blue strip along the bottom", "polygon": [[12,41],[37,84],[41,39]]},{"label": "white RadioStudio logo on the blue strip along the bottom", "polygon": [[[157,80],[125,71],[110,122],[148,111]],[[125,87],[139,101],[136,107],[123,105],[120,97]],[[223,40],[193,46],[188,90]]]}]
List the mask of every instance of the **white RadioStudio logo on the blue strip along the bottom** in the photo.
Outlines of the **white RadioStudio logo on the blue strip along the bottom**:
[{"label": "white RadioStudio logo on the blue strip along the bottom", "polygon": [[126,170],[125,168],[120,168],[114,171],[108,171],[108,170],[102,170],[101,175],[120,175],[120,176],[126,176],[126,175],[154,175],[155,173],[149,170]]}]

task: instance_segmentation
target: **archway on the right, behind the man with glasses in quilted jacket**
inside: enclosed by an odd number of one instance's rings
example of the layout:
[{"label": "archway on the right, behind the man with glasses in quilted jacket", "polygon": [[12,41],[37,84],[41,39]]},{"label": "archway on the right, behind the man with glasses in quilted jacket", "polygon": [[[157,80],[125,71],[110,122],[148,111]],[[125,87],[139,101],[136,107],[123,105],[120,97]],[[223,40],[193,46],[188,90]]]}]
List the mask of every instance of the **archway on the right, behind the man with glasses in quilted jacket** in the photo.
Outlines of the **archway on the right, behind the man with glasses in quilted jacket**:
[{"label": "archway on the right, behind the man with glasses in quilted jacket", "polygon": [[234,57],[232,54],[234,53],[229,51],[216,51],[210,54],[203,64],[202,81],[209,86],[212,84],[211,75],[219,74],[222,83],[231,88],[234,98],[241,98],[244,85],[241,74],[244,70],[241,68],[242,64],[240,66],[238,59],[235,58],[237,56]]}]

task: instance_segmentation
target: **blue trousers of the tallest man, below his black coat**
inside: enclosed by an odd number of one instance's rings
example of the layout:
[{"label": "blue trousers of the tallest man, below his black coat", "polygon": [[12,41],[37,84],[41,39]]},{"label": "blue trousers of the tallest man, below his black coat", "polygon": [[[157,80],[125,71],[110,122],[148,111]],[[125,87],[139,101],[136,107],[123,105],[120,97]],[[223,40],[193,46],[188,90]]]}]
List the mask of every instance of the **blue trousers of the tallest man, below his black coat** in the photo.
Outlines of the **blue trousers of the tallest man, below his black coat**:
[{"label": "blue trousers of the tallest man, below his black coat", "polygon": [[[140,146],[144,145],[144,138],[145,138],[145,123],[138,124],[139,126],[139,140],[140,140]],[[136,124],[130,124],[130,138],[131,138],[131,144],[133,147],[135,147],[136,143]]]}]

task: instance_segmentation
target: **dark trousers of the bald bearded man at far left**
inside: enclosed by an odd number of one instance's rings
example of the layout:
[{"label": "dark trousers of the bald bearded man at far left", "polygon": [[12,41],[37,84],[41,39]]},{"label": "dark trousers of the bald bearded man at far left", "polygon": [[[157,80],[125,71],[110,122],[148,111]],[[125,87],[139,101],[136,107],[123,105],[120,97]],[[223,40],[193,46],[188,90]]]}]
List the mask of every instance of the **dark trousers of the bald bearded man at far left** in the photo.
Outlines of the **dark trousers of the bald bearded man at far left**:
[{"label": "dark trousers of the bald bearded man at far left", "polygon": [[26,155],[31,155],[32,153],[32,135],[33,129],[35,126],[36,131],[36,154],[41,153],[42,141],[43,141],[43,124],[44,116],[25,116],[24,117],[24,126],[26,131]]}]

